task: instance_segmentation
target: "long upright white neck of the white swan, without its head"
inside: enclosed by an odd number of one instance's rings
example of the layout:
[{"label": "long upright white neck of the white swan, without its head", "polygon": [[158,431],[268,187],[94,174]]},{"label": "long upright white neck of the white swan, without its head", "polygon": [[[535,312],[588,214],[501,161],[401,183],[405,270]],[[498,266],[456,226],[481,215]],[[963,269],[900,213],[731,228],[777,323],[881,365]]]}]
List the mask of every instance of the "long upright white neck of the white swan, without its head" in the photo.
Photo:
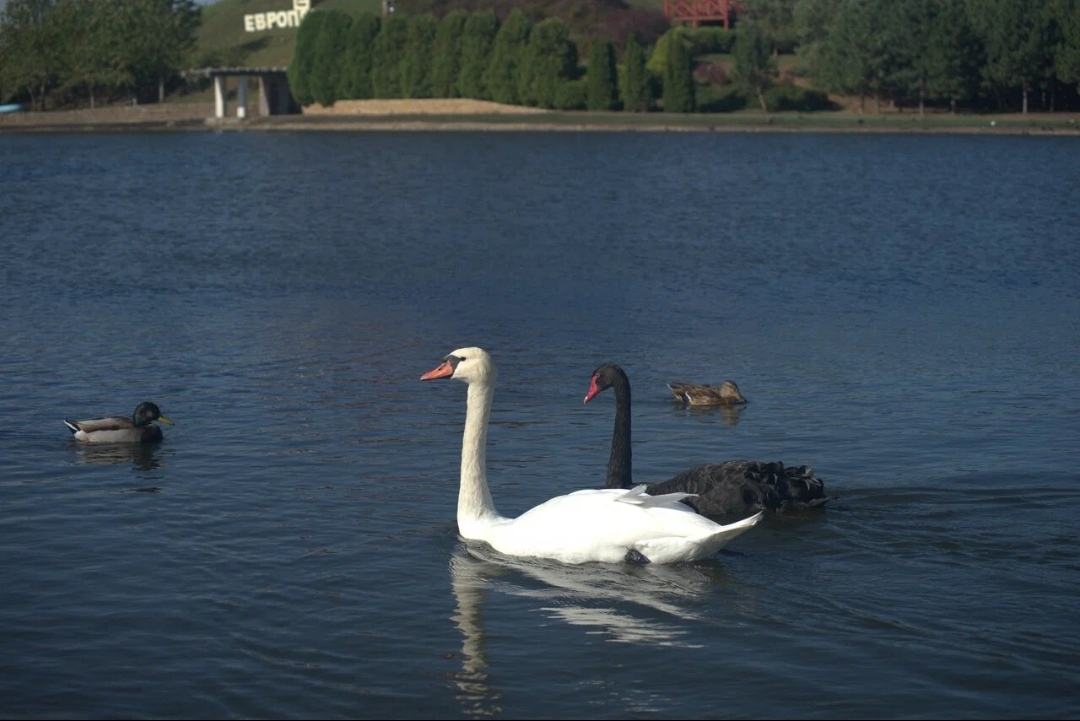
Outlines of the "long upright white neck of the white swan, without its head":
[{"label": "long upright white neck of the white swan, without its head", "polygon": [[486,540],[487,529],[505,520],[495,509],[487,487],[487,424],[495,385],[484,380],[469,383],[465,431],[461,440],[461,488],[458,490],[458,532],[465,539]]}]

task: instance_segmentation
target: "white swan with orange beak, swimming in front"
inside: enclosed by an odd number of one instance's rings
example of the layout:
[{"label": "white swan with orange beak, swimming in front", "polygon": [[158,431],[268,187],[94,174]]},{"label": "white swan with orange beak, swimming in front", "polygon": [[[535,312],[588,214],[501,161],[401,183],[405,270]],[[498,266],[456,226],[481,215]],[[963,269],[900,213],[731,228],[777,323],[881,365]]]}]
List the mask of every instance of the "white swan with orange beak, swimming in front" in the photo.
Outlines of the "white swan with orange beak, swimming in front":
[{"label": "white swan with orange beak, swimming in front", "polygon": [[586,489],[557,495],[517,518],[495,509],[487,487],[487,425],[498,371],[486,351],[454,351],[421,381],[455,378],[469,384],[461,443],[458,532],[508,556],[586,561],[673,563],[712,556],[761,519],[757,513],[721,526],[679,503],[687,493],[649,495],[645,486]]}]

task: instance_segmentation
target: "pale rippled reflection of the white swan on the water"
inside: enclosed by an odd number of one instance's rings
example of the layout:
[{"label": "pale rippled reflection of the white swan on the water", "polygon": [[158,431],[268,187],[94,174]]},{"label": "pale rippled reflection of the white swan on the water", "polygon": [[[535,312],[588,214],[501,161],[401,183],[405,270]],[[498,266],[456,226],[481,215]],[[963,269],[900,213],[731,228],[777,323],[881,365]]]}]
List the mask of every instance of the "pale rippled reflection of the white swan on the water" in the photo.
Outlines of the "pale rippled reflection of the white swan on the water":
[{"label": "pale rippled reflection of the white swan on the water", "polygon": [[536,610],[550,618],[589,627],[607,641],[688,649],[703,645],[694,640],[694,622],[708,623],[694,609],[712,615],[715,608],[707,599],[718,593],[729,600],[742,596],[724,588],[733,582],[711,560],[576,566],[504,556],[484,543],[463,542],[450,557],[450,583],[457,601],[453,621],[462,635],[461,671],[455,679],[470,717],[502,712],[501,693],[488,682],[485,594],[535,599]]}]

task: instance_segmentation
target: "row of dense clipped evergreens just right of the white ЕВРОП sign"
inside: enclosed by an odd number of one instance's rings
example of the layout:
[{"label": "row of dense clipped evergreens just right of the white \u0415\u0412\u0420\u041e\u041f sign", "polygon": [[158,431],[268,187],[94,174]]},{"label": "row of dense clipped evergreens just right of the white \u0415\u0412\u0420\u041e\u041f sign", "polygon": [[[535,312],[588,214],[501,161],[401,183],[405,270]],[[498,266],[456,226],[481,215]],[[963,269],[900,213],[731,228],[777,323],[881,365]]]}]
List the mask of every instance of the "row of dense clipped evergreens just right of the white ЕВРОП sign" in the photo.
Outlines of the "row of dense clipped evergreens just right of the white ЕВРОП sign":
[{"label": "row of dense clipped evergreens just right of the white \u0415\u0412\u0420\u041e\u041f sign", "polygon": [[[652,92],[645,54],[640,47],[630,53],[634,69],[624,89],[626,101],[645,107]],[[610,41],[592,42],[589,66],[584,79],[577,44],[558,17],[532,22],[514,10],[500,22],[494,11],[455,10],[442,19],[430,13],[353,18],[330,10],[305,17],[288,81],[301,105],[464,97],[543,108],[615,108],[620,94]]]}]

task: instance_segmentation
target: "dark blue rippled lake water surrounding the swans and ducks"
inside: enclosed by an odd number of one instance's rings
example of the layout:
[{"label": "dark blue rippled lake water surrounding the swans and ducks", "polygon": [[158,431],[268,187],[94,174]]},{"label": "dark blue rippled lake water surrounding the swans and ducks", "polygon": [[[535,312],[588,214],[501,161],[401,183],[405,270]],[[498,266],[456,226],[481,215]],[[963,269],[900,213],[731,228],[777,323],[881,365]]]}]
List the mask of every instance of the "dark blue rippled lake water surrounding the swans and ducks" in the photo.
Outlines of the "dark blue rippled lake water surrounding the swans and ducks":
[{"label": "dark blue rippled lake water surrounding the swans and ducks", "polygon": [[[0,716],[1075,718],[1080,142],[0,135]],[[714,559],[457,535],[464,385],[516,515],[808,464]],[[737,413],[664,383],[735,380]],[[153,400],[146,448],[65,418]]]}]

